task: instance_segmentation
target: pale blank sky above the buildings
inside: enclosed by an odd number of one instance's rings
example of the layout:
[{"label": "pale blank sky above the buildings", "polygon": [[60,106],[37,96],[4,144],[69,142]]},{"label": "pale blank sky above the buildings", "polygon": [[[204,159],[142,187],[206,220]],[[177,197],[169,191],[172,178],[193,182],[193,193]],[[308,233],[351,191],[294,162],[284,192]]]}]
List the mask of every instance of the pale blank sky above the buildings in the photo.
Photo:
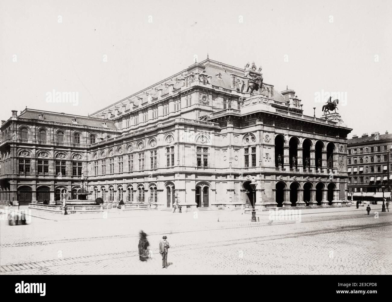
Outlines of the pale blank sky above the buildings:
[{"label": "pale blank sky above the buildings", "polygon": [[[347,92],[338,112],[349,137],[392,133],[391,15],[389,0],[0,0],[0,118],[26,106],[91,114],[208,52],[262,65],[264,82],[295,90],[307,115],[322,115],[315,93]],[[78,106],[47,103],[53,89],[78,92]]]}]

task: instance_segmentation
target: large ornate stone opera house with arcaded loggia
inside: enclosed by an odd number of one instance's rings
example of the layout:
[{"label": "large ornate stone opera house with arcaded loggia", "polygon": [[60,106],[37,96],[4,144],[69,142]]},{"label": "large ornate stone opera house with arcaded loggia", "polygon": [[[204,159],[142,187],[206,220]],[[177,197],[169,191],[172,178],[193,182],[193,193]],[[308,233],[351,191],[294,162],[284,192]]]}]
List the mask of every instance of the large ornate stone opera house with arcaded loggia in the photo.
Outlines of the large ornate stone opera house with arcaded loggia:
[{"label": "large ornate stone opera house with arcaded loggia", "polygon": [[249,74],[262,81],[254,63],[207,59],[89,117],[13,111],[1,127],[0,198],[19,191],[21,203],[53,203],[80,189],[83,167],[91,198],[109,201],[230,209],[254,196],[258,208],[346,202],[351,129],[337,114],[303,115],[291,89],[263,83],[251,95]]}]

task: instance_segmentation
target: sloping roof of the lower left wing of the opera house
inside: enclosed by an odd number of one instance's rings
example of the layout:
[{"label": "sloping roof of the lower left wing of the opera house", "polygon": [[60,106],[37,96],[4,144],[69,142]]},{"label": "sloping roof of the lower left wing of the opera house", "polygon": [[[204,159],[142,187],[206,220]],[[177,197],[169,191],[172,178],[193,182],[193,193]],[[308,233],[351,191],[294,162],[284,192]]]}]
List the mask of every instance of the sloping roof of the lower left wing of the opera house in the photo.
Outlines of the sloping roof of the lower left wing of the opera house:
[{"label": "sloping roof of the lower left wing of the opera house", "polygon": [[[39,117],[41,114],[44,114],[43,118]],[[36,109],[26,108],[20,113],[18,117],[29,118],[29,119],[43,119],[45,121],[55,121],[60,123],[85,125],[90,127],[104,127],[104,128],[117,129],[114,122],[109,119],[90,118],[86,116],[77,116],[75,114],[65,114],[60,112],[50,112],[50,111],[36,110]],[[73,123],[73,119],[75,118],[76,118],[76,122]],[[103,126],[103,123],[107,123],[107,127]]]}]

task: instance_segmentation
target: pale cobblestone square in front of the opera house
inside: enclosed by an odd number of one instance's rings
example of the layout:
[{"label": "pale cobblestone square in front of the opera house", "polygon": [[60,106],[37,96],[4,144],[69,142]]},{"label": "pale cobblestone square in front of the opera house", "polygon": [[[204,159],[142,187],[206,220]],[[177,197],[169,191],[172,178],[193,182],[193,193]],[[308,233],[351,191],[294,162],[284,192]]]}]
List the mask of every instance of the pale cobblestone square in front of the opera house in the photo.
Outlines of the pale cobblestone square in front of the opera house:
[{"label": "pale cobblestone square in front of the opera house", "polygon": [[[241,211],[67,219],[37,211],[29,225],[0,221],[0,274],[391,274],[392,213],[372,208],[370,216],[314,209],[301,222],[268,212],[250,222]],[[137,255],[140,229],[151,243],[147,262]],[[157,249],[162,235],[171,245],[167,269]]]}]

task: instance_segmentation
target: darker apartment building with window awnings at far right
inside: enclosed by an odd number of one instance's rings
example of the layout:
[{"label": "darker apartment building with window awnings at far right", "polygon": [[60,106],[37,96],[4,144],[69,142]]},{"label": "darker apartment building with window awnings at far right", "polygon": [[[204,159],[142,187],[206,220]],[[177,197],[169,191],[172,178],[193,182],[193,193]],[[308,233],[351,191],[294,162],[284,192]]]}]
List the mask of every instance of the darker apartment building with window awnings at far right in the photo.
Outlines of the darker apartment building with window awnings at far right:
[{"label": "darker apartment building with window awnings at far right", "polygon": [[[348,151],[348,187],[353,196],[366,199],[390,197],[392,186],[392,134],[372,135],[367,133],[361,137],[354,135],[347,143]],[[363,194],[361,194],[361,191]],[[374,192],[377,192],[374,194]],[[351,194],[349,194],[351,195]],[[355,199],[355,198],[354,198]]]}]

